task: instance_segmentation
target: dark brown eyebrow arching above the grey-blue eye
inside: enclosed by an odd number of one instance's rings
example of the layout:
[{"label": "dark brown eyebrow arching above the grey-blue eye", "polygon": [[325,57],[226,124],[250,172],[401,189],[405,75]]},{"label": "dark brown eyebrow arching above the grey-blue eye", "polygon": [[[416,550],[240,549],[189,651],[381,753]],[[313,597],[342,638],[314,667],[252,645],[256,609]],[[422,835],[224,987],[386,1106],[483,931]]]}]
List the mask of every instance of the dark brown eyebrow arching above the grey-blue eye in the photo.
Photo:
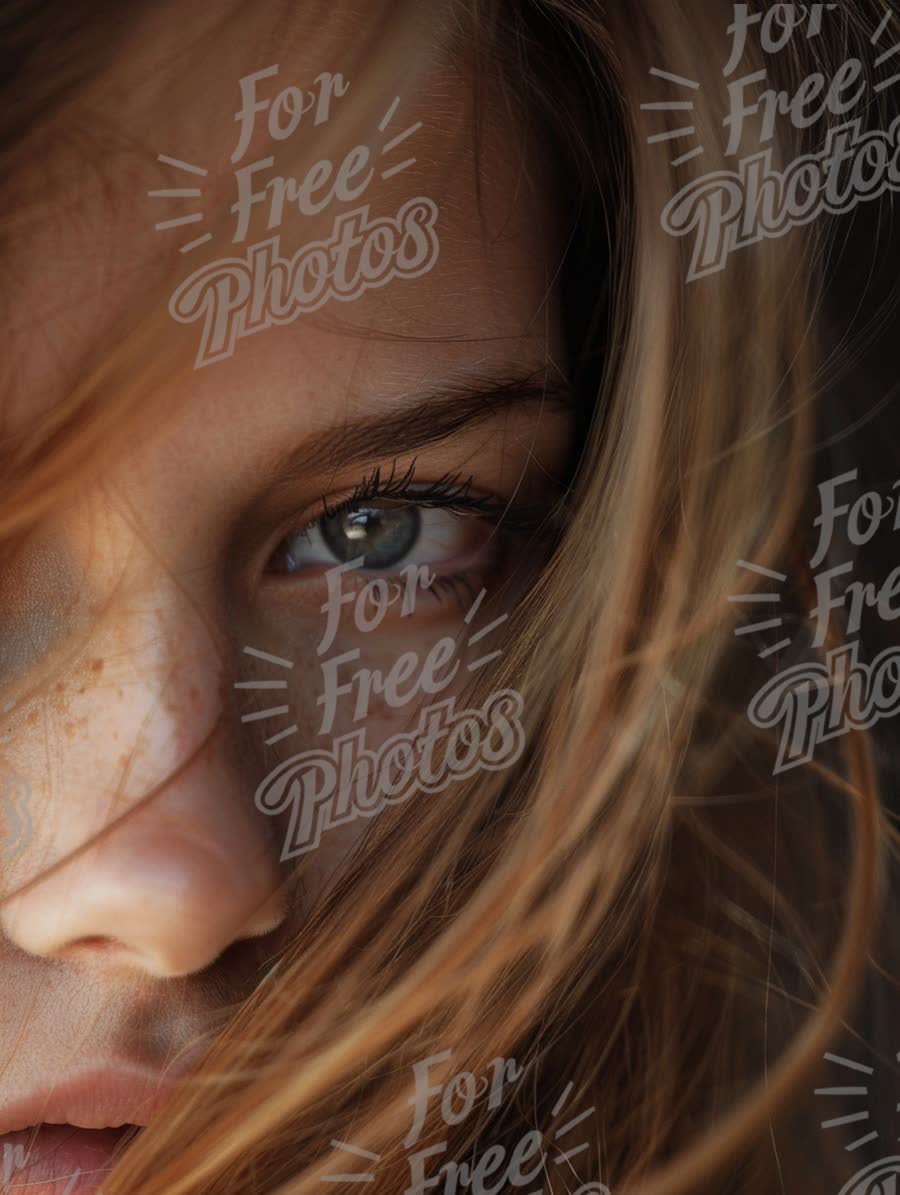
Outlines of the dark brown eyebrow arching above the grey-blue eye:
[{"label": "dark brown eyebrow arching above the grey-blue eye", "polygon": [[562,378],[528,374],[466,374],[391,411],[353,419],[286,453],[270,472],[276,486],[292,485],[316,468],[338,470],[388,455],[402,456],[441,443],[510,407],[570,410],[575,396]]}]

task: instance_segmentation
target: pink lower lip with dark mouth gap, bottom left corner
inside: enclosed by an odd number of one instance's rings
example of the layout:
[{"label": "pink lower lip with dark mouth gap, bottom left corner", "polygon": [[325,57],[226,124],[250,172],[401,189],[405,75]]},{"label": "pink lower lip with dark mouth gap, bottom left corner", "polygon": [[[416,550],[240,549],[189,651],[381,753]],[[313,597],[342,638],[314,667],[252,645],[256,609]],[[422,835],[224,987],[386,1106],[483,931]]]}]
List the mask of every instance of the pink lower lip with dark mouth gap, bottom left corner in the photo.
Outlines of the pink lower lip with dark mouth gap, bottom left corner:
[{"label": "pink lower lip with dark mouth gap, bottom left corner", "polygon": [[[37,1130],[5,1133],[0,1136],[0,1191],[23,1195],[99,1191],[118,1160],[127,1133],[122,1128],[72,1124],[42,1124]],[[19,1166],[23,1158],[25,1165]]]}]

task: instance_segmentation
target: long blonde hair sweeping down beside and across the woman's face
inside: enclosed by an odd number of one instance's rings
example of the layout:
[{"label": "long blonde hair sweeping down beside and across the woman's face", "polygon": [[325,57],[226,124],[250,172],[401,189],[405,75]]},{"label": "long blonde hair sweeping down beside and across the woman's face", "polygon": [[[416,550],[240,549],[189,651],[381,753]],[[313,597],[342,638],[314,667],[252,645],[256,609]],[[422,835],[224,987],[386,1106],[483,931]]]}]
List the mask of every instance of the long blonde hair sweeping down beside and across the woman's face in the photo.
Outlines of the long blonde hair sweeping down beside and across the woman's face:
[{"label": "long blonde hair sweeping down beside and across the woman's face", "polygon": [[[406,7],[367,60],[390,61]],[[841,37],[785,51],[785,84],[818,55],[839,60],[884,11],[846,8]],[[837,1190],[844,1162],[779,1151],[772,1126],[812,1090],[858,989],[888,832],[862,733],[827,768],[773,782],[773,743],[743,712],[761,668],[735,645],[728,602],[746,590],[737,560],[792,564],[807,534],[822,233],[763,240],[685,284],[690,246],[661,227],[681,186],[728,168],[730,5],[457,0],[452,11],[476,88],[500,81],[570,213],[564,298],[583,449],[559,541],[490,678],[524,694],[528,747],[510,772],[373,827],[196,1085],[104,1189],[302,1195],[347,1172],[332,1142],[351,1140],[379,1158],[371,1189],[403,1190],[410,1068],[452,1049],[445,1077],[482,1076],[501,1058],[522,1083],[455,1129],[433,1115],[417,1148],[446,1140],[446,1157],[465,1159],[476,1142],[514,1144],[524,1124],[550,1141],[592,1105],[590,1160],[549,1171],[545,1190],[596,1181],[616,1195],[740,1195],[779,1179],[788,1189],[790,1176]],[[102,65],[99,49],[79,55],[66,85]],[[672,166],[648,145],[672,120],[650,127],[641,110],[667,98],[653,67],[699,85],[699,161]],[[61,102],[35,100],[38,133]],[[776,161],[798,148],[779,134]],[[146,349],[141,327],[131,356],[97,363],[13,446],[8,535],[127,427],[112,392]]]}]

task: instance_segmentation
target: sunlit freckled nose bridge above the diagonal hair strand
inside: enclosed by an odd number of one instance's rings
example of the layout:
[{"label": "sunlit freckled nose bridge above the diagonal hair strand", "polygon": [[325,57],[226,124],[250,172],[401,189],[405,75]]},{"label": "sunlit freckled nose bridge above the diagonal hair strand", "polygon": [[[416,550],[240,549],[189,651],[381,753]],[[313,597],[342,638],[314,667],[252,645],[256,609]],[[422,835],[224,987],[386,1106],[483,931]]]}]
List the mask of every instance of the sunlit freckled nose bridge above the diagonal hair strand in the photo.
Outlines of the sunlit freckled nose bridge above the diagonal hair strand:
[{"label": "sunlit freckled nose bridge above the diagonal hair strand", "polygon": [[57,661],[56,673],[4,711],[0,770],[23,779],[30,822],[25,847],[0,859],[4,891],[165,785],[221,713],[218,652],[178,606],[129,603]]}]

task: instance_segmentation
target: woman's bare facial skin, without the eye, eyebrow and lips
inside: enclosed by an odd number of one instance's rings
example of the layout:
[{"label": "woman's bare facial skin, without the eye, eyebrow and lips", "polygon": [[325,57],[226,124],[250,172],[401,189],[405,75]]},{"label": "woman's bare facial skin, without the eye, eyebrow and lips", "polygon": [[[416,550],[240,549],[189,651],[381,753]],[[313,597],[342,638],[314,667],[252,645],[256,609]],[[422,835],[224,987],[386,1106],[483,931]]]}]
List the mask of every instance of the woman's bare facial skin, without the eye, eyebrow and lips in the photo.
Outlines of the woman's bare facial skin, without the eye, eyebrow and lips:
[{"label": "woman's bare facial skin, without the eye, eyebrow and lips", "polygon": [[[564,364],[557,301],[547,299],[559,221],[539,164],[502,105],[489,105],[479,220],[470,80],[434,33],[437,10],[433,17],[404,33],[417,47],[408,61],[425,63],[403,91],[404,122],[423,122],[410,139],[417,163],[373,183],[366,200],[384,214],[418,195],[439,204],[434,269],[269,327],[203,369],[191,367],[197,326],[178,326],[164,310],[167,381],[124,449],[98,464],[2,581],[2,762],[29,780],[33,834],[2,871],[0,1107],[98,1062],[161,1073],[259,982],[368,826],[357,820],[326,835],[302,859],[294,896],[286,894],[284,820],[261,814],[253,792],[280,760],[362,723],[343,701],[330,736],[317,734],[324,569],[267,571],[280,541],[319,517],[323,496],[341,501],[376,466],[403,474],[415,460],[417,483],[459,472],[478,494],[535,505],[562,476],[569,417],[552,404],[497,406],[399,455],[342,456],[348,423],[428,403],[449,382],[534,372],[558,379]],[[73,111],[72,135],[63,122],[43,174],[23,182],[30,208],[12,249],[20,290],[10,337],[20,369],[11,423],[42,417],[117,313],[146,302],[166,271],[180,278],[200,264],[178,253],[184,229],[153,231],[184,208],[146,192],[185,185],[171,173],[160,182],[155,153],[209,166],[227,228],[238,80],[277,62],[286,86],[353,63],[371,17],[338,0],[322,12],[312,6],[290,36],[274,35],[277,19],[274,6],[252,6],[240,27],[204,41],[200,18],[185,27],[182,8],[177,20],[173,7],[158,8]],[[178,53],[191,35],[204,53],[186,68]],[[350,98],[356,80],[344,73]],[[399,90],[393,79],[387,87]],[[363,111],[380,116],[384,105],[367,108],[357,90]],[[88,121],[116,146],[102,167],[72,131]],[[301,125],[283,147],[300,154],[295,170],[319,157],[314,133]],[[330,133],[336,159],[359,140]],[[65,192],[54,185],[62,178]],[[283,245],[293,252],[326,235],[337,208],[319,221],[289,215]],[[256,220],[247,243],[264,234]],[[210,258],[239,251],[227,231],[208,250]],[[292,453],[304,460],[288,478]],[[445,516],[442,525],[453,531],[452,550],[431,568],[465,575],[461,600],[423,593],[411,618],[392,611],[368,635],[344,612],[332,652],[359,646],[361,667],[386,670],[402,652],[423,660],[458,633],[482,586],[490,600],[477,626],[510,607],[526,580],[520,570],[503,589],[514,541],[479,520]],[[278,669],[245,645],[294,667]],[[287,680],[274,697],[234,688],[274,679]],[[289,719],[240,721],[284,704]],[[406,728],[417,707],[374,700],[367,744]],[[265,744],[290,722],[293,736]]]}]

